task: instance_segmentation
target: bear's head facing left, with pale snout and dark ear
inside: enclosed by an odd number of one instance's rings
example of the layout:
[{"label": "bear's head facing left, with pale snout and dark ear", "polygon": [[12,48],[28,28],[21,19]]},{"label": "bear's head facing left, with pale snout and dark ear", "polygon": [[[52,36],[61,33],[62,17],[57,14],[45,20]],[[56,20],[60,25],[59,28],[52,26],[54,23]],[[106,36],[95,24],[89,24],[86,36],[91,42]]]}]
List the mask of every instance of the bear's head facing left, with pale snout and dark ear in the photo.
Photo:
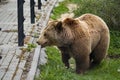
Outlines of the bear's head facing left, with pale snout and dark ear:
[{"label": "bear's head facing left, with pale snout and dark ear", "polygon": [[[73,42],[71,29],[77,24],[71,18],[64,21],[51,21],[41,33],[37,43],[42,47],[45,46],[67,46]],[[74,27],[75,28],[75,27]]]}]

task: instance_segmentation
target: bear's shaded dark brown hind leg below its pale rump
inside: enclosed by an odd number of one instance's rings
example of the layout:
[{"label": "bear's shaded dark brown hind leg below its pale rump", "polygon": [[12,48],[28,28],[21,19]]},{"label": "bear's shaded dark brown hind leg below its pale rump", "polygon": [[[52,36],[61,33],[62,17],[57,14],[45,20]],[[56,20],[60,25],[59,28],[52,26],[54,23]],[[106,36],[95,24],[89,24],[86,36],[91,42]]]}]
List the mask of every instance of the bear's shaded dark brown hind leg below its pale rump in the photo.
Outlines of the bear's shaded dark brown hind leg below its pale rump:
[{"label": "bear's shaded dark brown hind leg below its pale rump", "polygon": [[109,46],[109,38],[103,38],[92,52],[91,58],[93,59],[91,66],[100,64],[100,62],[106,57]]}]

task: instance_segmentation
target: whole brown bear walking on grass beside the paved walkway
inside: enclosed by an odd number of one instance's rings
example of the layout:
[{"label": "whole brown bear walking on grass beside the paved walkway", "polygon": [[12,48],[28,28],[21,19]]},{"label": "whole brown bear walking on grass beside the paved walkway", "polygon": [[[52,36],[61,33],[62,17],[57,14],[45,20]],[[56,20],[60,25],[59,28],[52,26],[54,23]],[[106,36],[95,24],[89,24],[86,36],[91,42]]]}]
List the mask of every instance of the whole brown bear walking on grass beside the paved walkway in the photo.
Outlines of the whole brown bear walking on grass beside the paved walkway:
[{"label": "whole brown bear walking on grass beside the paved walkway", "polygon": [[105,58],[109,42],[106,23],[100,17],[89,13],[75,19],[50,22],[37,41],[42,47],[57,46],[67,68],[70,57],[73,57],[76,73],[80,74]]}]

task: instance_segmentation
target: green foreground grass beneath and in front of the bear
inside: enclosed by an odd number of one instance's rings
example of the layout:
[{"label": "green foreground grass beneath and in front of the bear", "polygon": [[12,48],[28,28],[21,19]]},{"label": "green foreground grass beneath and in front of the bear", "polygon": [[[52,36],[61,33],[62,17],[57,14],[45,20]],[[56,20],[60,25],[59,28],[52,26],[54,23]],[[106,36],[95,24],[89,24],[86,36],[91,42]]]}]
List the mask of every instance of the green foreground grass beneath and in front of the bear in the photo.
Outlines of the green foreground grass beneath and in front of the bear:
[{"label": "green foreground grass beneath and in front of the bear", "polygon": [[[48,63],[40,66],[41,74],[36,80],[119,80],[120,59],[105,59],[99,66],[84,75],[75,73],[75,68],[66,69],[59,50],[47,47]],[[73,64],[73,63],[71,63]]]}]

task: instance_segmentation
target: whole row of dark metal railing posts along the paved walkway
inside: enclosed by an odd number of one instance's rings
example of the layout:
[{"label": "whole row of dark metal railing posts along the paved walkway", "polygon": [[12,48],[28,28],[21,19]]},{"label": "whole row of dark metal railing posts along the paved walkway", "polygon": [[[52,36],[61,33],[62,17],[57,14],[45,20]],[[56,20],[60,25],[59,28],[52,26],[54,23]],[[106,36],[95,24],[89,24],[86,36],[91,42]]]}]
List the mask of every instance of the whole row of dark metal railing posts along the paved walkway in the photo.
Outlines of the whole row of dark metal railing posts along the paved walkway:
[{"label": "whole row of dark metal railing posts along the paved walkway", "polygon": [[[47,0],[45,0],[47,1]],[[23,5],[25,0],[17,0],[17,14],[18,14],[18,46],[24,46],[24,10]],[[41,0],[38,0],[38,9],[41,9],[42,3]],[[35,23],[35,1],[30,0],[30,13],[31,13],[31,23]]]}]

